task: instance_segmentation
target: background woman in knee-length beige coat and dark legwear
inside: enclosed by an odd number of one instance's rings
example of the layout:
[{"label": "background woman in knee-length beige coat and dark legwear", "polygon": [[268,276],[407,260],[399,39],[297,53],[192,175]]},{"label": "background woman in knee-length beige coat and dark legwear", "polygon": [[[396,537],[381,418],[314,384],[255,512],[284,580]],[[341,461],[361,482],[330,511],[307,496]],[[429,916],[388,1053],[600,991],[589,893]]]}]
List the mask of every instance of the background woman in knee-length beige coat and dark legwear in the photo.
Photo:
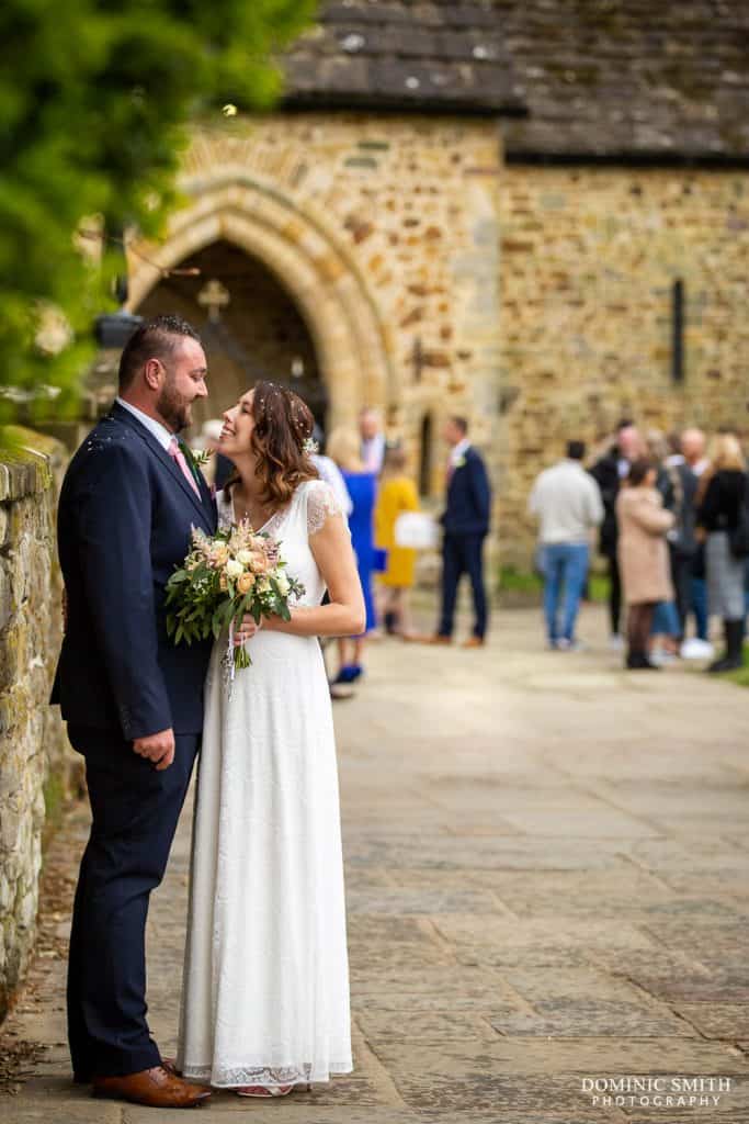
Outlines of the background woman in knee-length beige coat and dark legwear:
[{"label": "background woman in knee-length beige coat and dark legwear", "polygon": [[654,669],[647,654],[652,614],[658,601],[674,599],[666,533],[674,516],[664,510],[656,489],[656,469],[648,460],[634,461],[625,487],[616,498],[619,568],[627,617],[627,667]]}]

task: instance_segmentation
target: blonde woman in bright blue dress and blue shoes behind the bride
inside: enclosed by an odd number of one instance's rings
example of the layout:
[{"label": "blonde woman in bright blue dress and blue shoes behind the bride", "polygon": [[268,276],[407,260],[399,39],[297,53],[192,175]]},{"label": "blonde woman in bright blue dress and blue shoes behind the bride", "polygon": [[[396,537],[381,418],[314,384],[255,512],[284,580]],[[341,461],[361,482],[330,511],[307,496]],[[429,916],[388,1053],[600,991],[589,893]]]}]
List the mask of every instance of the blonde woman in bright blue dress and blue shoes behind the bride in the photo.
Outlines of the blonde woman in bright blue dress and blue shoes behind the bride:
[{"label": "blonde woman in bright blue dress and blue shoes behind the bride", "polygon": [[353,683],[364,672],[366,634],[377,626],[372,591],[375,562],[374,505],[377,495],[377,478],[363,463],[359,441],[353,429],[334,429],[328,438],[327,452],[328,456],[340,469],[344,483],[351,498],[353,508],[348,517],[348,525],[366,606],[366,627],[362,635],[338,641],[340,667],[334,682]]}]

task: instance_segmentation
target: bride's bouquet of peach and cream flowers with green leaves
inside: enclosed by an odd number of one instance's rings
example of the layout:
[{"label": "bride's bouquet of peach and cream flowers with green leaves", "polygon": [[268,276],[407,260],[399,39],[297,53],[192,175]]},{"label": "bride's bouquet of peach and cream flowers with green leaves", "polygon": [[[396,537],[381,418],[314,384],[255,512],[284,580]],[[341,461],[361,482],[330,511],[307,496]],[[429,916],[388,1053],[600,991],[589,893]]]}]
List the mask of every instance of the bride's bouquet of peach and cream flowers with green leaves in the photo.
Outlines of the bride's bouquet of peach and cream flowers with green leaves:
[{"label": "bride's bouquet of peach and cream flowers with green leaves", "polygon": [[[227,659],[231,678],[237,668],[253,662],[244,645],[234,647],[234,631],[249,614],[291,619],[290,597],[304,587],[285,572],[278,543],[255,533],[247,520],[213,536],[192,528],[192,550],[166,583],[166,631],[174,643],[217,640],[229,628]],[[231,650],[234,647],[234,655]]]}]

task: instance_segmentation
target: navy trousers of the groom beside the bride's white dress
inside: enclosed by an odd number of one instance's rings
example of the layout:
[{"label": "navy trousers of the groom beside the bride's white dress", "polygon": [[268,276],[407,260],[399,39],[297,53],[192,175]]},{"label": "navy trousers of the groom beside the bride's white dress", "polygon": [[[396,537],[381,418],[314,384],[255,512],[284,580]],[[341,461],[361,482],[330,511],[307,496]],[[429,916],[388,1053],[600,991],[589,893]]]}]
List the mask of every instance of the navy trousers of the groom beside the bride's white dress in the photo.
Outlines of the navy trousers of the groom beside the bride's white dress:
[{"label": "navy trousers of the groom beside the bride's white dress", "polygon": [[161,1063],[146,1022],[148,896],[164,877],[199,735],[177,735],[173,764],[158,771],[103,731],[68,725],[67,733],[85,756],[92,814],[67,976],[71,1058],[84,1080],[92,1068],[116,1076]]}]

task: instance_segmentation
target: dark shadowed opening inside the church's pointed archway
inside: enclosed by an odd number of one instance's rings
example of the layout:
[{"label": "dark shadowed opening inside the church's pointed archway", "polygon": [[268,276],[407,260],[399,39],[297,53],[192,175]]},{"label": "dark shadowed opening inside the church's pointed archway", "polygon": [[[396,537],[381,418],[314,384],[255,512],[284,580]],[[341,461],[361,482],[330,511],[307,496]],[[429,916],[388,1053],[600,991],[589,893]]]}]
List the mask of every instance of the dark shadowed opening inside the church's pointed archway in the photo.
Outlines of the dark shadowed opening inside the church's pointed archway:
[{"label": "dark shadowed opening inside the church's pointed archway", "polygon": [[191,254],[176,270],[137,311],[147,318],[176,312],[201,334],[210,397],[195,404],[194,432],[220,417],[258,379],[291,387],[325,425],[328,399],[312,337],[274,274],[223,239]]}]

